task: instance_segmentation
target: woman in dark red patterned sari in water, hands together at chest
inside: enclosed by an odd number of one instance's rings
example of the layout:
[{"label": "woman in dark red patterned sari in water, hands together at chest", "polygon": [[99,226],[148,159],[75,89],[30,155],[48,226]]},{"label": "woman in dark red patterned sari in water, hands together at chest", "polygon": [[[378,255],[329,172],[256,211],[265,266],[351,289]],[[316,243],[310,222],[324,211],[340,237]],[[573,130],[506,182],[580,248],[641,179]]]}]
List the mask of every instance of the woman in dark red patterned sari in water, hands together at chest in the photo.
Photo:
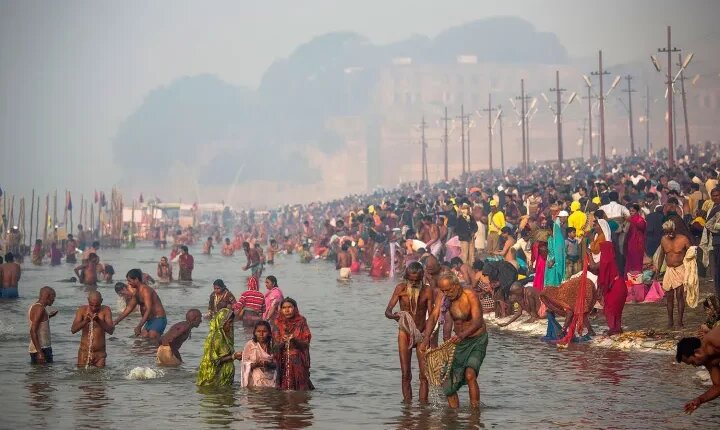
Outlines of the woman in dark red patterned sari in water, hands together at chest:
[{"label": "woman in dark red patterned sari in water, hands together at chest", "polygon": [[278,388],[281,390],[314,390],[310,382],[310,328],[300,315],[297,302],[286,297],[280,303],[280,315],[275,320],[278,364]]}]

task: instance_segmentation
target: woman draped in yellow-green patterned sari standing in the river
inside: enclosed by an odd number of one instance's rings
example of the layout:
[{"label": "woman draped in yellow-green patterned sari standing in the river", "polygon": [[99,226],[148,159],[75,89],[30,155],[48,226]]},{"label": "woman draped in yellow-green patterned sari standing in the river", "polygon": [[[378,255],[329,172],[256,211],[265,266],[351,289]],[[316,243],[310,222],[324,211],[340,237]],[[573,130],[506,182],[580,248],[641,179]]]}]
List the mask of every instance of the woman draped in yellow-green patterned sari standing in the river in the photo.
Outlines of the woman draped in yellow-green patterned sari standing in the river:
[{"label": "woman draped in yellow-green patterned sari standing in the river", "polygon": [[228,336],[223,330],[223,323],[229,314],[229,309],[221,309],[210,321],[210,332],[205,339],[205,349],[200,360],[196,385],[221,387],[233,383],[235,378],[233,360],[220,365],[215,364],[221,357],[233,353],[232,333]]}]

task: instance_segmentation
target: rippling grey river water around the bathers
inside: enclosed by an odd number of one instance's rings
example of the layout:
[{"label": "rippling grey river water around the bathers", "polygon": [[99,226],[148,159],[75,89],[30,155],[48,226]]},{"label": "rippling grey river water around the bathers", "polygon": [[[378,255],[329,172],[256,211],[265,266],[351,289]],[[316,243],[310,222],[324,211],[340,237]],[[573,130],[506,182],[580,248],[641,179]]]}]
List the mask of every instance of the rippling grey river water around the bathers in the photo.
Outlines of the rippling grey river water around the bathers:
[{"label": "rippling grey river water around the bathers", "polygon": [[[139,247],[100,254],[122,279],[134,267],[154,274],[155,262],[166,252]],[[191,307],[205,312],[216,278],[224,279],[236,296],[244,289],[244,256],[195,258],[192,286],[158,288],[169,324]],[[70,324],[77,307],[86,303],[85,289],[55,282],[72,276],[69,265],[26,264],[21,299],[0,302],[0,428],[720,428],[717,401],[690,417],[681,414],[684,403],[707,387],[693,378],[696,369],[674,364],[670,355],[588,346],[558,351],[536,338],[492,329],[479,375],[481,413],[467,407],[467,388],[460,392],[458,411],[447,409],[437,393],[431,394],[429,406],[404,405],[396,323],[383,315],[393,281],[358,275],[338,283],[333,268],[278,256],[265,272],[277,276],[285,294],[298,300],[313,334],[316,390],[283,393],[243,390],[237,383],[224,390],[198,390],[194,380],[205,323],[183,346],[182,367],[164,369],[155,379],[129,379],[135,367],[157,369],[155,349],[133,337],[138,314],[109,338],[107,368],[77,369],[80,334],[70,334]],[[30,366],[27,355],[27,310],[43,285],[55,288],[59,310],[51,320],[55,363],[46,367]],[[112,287],[103,285],[100,291],[116,315]],[[236,349],[248,337],[238,326]],[[413,370],[416,383],[414,358]]]}]

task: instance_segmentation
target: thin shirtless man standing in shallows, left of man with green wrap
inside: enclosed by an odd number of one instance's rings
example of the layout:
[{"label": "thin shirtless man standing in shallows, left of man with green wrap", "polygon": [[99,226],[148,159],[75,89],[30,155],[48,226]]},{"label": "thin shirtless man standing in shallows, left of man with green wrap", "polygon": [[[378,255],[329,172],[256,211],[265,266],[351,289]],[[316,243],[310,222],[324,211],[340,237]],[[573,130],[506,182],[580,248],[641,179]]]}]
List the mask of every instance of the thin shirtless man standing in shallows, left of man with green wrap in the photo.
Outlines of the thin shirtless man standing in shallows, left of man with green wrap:
[{"label": "thin shirtless man standing in shallows, left of man with green wrap", "polygon": [[[398,330],[398,351],[402,372],[403,401],[405,402],[412,401],[412,373],[410,371],[412,349],[422,341],[420,336],[423,331],[426,331],[425,339],[429,339],[432,332],[432,326],[426,330],[428,326],[426,326],[425,316],[433,303],[433,290],[423,282],[424,275],[422,264],[410,263],[405,271],[405,282],[397,284],[387,308],[385,308],[386,318],[395,321],[400,321],[401,318],[403,320]],[[400,302],[400,312],[393,312],[398,301]],[[410,333],[405,331],[406,329]],[[429,387],[425,376],[425,356],[419,349],[416,354],[420,367],[420,402],[427,403]]]}]

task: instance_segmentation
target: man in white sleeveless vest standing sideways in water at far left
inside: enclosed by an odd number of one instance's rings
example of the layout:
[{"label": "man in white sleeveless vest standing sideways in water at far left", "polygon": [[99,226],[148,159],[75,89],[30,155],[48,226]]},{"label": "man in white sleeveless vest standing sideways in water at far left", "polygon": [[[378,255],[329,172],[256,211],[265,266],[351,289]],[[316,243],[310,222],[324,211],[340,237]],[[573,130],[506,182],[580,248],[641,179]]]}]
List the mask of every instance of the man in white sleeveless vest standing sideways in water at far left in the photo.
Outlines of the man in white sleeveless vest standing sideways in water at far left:
[{"label": "man in white sleeveless vest standing sideways in water at far left", "polygon": [[57,314],[57,310],[48,313],[47,307],[55,303],[55,290],[42,287],[38,301],[28,309],[30,322],[30,363],[45,364],[53,362],[52,346],[50,344],[50,318]]}]

